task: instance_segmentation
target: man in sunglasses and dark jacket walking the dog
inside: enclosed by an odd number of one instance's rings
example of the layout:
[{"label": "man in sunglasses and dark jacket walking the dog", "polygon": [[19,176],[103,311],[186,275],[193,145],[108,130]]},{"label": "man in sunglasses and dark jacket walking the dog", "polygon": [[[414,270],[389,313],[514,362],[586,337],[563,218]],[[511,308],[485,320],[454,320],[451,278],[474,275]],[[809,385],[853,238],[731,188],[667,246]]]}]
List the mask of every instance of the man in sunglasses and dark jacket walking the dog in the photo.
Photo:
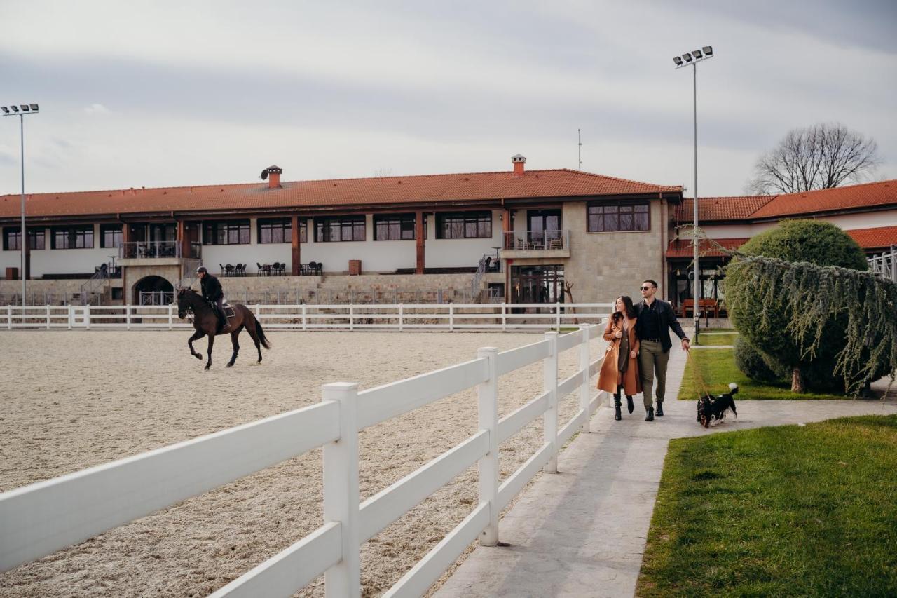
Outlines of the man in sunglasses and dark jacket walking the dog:
[{"label": "man in sunglasses and dark jacket walking the dog", "polygon": [[635,333],[639,337],[639,369],[641,373],[641,387],[645,398],[645,421],[654,421],[654,403],[651,400],[651,391],[654,386],[654,375],[657,373],[658,389],[658,418],[664,415],[664,396],[666,394],[666,362],[669,360],[669,350],[673,347],[670,342],[670,333],[667,328],[673,330],[675,335],[682,339],[682,348],[687,351],[690,347],[688,338],[682,330],[682,326],[675,319],[673,306],[666,301],[655,298],[658,292],[658,283],[646,280],[641,283],[641,301],[635,306],[639,320],[635,322]]}]

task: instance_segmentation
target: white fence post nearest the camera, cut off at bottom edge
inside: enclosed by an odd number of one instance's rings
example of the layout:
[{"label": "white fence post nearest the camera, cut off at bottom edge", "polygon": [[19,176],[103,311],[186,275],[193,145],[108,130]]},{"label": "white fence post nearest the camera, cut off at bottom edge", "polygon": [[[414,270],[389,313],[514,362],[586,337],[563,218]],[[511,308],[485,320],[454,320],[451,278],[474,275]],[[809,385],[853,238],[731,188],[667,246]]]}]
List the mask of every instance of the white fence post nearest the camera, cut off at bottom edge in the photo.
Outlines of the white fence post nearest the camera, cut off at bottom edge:
[{"label": "white fence post nearest the camera, cut off at bottom edge", "polygon": [[321,389],[323,401],[339,402],[339,440],[324,445],[324,522],[339,522],[343,555],[327,569],[324,592],[328,598],[359,598],[358,384],[324,384]]}]

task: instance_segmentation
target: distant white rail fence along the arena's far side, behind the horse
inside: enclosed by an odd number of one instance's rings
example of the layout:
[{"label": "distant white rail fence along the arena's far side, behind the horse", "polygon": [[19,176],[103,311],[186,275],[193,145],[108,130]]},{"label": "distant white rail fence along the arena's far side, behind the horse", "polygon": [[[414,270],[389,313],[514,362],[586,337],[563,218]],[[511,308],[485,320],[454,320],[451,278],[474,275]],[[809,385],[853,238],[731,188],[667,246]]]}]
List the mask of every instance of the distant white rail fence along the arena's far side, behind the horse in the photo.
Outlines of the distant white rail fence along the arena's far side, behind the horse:
[{"label": "distant white rail fence along the arena's far side, behind the horse", "polygon": [[[266,329],[283,330],[546,330],[597,323],[610,303],[373,303],[249,305]],[[4,312],[5,311],[5,312]],[[191,328],[177,305],[7,305],[0,329]]]}]

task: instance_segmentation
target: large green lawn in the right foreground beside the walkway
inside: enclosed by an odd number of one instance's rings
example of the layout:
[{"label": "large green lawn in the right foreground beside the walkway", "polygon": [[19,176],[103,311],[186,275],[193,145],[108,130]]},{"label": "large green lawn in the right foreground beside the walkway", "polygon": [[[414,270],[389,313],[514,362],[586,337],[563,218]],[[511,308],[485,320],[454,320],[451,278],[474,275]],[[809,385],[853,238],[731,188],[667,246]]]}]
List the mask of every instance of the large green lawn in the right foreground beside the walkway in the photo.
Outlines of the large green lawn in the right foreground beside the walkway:
[{"label": "large green lawn in the right foreground beside the walkway", "polygon": [[670,442],[636,595],[897,595],[897,416]]}]

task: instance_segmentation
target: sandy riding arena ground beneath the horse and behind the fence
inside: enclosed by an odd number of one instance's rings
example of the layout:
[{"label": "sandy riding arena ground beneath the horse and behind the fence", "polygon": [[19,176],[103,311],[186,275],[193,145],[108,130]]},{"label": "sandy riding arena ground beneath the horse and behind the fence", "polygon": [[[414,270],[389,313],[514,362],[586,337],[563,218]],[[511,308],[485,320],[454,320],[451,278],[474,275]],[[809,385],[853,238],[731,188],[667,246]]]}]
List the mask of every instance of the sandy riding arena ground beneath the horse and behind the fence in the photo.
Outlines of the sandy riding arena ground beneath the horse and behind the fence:
[{"label": "sandy riding arena ground beneath the horse and behind the fence", "polygon": [[[536,342],[522,333],[272,332],[255,365],[245,337],[236,367],[216,343],[213,369],[187,351],[185,331],[10,331],[0,400],[0,491],[54,478],[297,409],[323,383],[361,389]],[[603,341],[594,341],[592,358]],[[196,343],[205,352],[205,341]],[[561,379],[577,351],[560,360]],[[500,416],[534,398],[542,365],[500,380]],[[571,393],[561,422],[577,407]],[[472,435],[475,390],[370,427],[360,437],[361,500]],[[539,418],[501,445],[504,479],[541,444]],[[440,489],[361,549],[362,594],[381,594],[476,504],[476,467]],[[322,523],[321,454],[239,479],[0,575],[0,596],[201,596],[283,550]],[[300,592],[323,595],[323,576]]]}]

